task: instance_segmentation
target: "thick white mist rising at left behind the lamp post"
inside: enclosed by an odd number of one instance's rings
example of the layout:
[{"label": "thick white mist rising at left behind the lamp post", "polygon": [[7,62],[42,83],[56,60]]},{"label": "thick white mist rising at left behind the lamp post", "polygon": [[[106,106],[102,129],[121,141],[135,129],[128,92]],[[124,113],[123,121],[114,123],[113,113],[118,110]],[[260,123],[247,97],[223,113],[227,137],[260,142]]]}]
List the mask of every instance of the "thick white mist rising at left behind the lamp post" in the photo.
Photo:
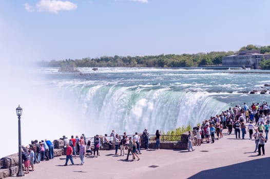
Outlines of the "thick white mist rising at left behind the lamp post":
[{"label": "thick white mist rising at left behind the lamp post", "polygon": [[83,124],[76,122],[78,114],[72,110],[70,103],[66,104],[58,98],[36,69],[33,63],[28,62],[4,63],[0,74],[0,135],[5,139],[5,145],[0,148],[0,158],[18,152],[15,109],[19,104],[23,108],[22,145],[28,145],[35,139],[53,141],[63,135],[70,137],[84,132],[80,130]]}]

